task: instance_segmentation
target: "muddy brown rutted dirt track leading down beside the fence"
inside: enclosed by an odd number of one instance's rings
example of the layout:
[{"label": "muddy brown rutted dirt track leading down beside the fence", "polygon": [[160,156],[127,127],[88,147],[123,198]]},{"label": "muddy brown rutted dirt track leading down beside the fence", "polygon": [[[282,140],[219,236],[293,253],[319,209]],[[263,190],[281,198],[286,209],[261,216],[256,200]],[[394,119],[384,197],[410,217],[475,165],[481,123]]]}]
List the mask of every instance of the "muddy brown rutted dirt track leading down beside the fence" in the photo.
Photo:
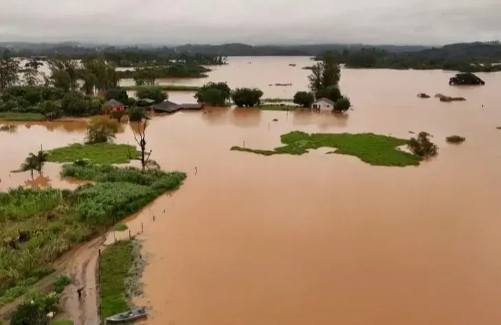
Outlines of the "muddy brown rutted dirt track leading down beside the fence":
[{"label": "muddy brown rutted dirt track leading down beside the fence", "polygon": [[[56,261],[56,271],[38,281],[34,289],[41,293],[49,293],[54,280],[60,274],[71,278],[61,297],[61,311],[56,319],[72,320],[75,325],[99,324],[98,315],[98,283],[96,271],[98,267],[99,250],[104,249],[104,236],[94,238],[88,243],[72,249]],[[77,289],[82,288],[82,299],[78,300]],[[6,323],[10,314],[25,299],[21,296],[5,306],[0,307],[0,320]]]}]

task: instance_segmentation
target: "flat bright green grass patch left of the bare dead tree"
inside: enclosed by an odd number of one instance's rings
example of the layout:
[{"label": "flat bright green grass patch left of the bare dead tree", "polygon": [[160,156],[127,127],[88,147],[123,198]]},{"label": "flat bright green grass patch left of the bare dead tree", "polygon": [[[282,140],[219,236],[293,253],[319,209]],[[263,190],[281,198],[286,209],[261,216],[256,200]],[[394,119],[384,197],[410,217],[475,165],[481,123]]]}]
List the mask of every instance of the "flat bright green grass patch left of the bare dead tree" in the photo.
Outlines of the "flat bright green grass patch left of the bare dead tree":
[{"label": "flat bright green grass patch left of the bare dead tree", "polygon": [[128,148],[131,155],[139,157],[140,152],[135,149],[135,146],[126,144],[71,144],[50,150],[49,161],[63,163],[89,159],[95,164],[126,164],[131,161]]}]

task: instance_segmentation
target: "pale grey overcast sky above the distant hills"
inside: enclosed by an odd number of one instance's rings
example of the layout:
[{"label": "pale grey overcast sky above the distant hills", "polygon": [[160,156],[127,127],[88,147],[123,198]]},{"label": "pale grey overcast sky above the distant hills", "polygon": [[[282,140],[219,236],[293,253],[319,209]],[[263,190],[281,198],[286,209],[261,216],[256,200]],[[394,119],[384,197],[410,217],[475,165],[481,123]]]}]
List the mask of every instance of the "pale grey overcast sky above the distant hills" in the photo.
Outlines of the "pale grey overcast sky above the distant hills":
[{"label": "pale grey overcast sky above the distant hills", "polygon": [[368,43],[501,39],[501,0],[0,0],[0,41]]}]

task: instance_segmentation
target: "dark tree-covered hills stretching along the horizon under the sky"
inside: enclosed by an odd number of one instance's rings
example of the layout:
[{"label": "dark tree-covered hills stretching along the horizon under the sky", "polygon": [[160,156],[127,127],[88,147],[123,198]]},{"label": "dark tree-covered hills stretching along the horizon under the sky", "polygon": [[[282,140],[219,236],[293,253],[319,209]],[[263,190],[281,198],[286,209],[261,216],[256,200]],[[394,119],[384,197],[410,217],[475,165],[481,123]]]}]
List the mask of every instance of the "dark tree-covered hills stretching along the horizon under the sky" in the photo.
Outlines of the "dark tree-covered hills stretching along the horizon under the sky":
[{"label": "dark tree-covered hills stretching along the horizon under the sky", "polygon": [[[317,45],[180,45],[176,47],[118,47],[80,43],[0,43],[0,56],[67,56],[105,58],[115,65],[131,67],[164,64],[168,60],[194,60],[202,65],[225,64],[225,56],[313,56],[330,53],[350,68],[445,69],[501,71],[501,43],[457,43],[441,47],[406,45],[317,44]],[[305,67],[308,68],[308,67]]]}]

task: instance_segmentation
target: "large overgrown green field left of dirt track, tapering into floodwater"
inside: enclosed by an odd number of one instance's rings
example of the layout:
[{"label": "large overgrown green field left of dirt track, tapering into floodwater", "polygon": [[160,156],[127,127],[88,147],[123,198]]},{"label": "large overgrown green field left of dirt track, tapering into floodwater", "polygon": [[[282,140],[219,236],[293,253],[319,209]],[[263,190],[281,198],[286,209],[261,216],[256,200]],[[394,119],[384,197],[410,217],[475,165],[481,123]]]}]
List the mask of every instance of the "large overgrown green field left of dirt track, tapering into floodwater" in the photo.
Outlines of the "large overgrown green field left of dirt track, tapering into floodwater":
[{"label": "large overgrown green field left of dirt track, tapering into floodwater", "polygon": [[186,178],[183,172],[78,164],[63,166],[63,176],[96,183],[74,191],[0,192],[0,300],[22,295],[71,247],[177,189]]}]

